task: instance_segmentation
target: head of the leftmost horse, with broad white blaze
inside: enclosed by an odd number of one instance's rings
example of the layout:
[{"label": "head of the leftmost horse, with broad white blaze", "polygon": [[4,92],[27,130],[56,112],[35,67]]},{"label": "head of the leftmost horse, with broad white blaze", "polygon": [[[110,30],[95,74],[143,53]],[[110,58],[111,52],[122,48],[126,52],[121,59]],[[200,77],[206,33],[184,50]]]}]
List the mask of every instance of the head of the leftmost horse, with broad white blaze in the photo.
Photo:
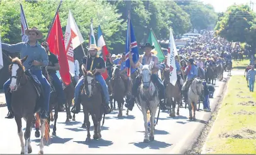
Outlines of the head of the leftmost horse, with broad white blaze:
[{"label": "head of the leftmost horse, with broad white blaze", "polygon": [[25,62],[27,58],[28,56],[25,56],[23,59],[19,59],[17,57],[11,58],[9,56],[9,60],[11,61],[11,65],[9,66],[11,84],[9,87],[11,88],[11,91],[16,91],[20,86],[21,78],[25,73],[25,67],[22,63]]}]

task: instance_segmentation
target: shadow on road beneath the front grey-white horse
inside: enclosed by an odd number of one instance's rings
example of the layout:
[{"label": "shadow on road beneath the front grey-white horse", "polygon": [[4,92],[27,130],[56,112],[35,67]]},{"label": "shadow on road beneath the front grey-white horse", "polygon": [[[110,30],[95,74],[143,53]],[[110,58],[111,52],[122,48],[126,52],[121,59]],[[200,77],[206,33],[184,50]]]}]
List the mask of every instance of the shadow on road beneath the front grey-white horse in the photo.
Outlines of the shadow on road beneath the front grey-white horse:
[{"label": "shadow on road beneath the front grey-white horse", "polygon": [[152,142],[130,142],[129,144],[133,144],[136,147],[140,147],[141,149],[145,149],[149,147],[150,149],[162,149],[165,147],[170,147],[172,144],[168,144],[166,142],[160,141],[152,141]]}]

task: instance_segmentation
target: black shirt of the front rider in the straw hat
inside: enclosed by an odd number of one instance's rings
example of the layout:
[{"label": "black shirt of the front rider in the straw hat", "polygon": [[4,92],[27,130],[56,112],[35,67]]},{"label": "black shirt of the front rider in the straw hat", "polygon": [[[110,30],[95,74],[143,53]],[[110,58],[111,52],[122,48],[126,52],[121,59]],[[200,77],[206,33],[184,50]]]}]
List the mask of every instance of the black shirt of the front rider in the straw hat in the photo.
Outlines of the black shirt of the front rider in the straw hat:
[{"label": "black shirt of the front rider in the straw hat", "polygon": [[[82,63],[86,64],[86,60],[87,57],[84,56],[84,58],[82,58]],[[92,63],[93,62],[93,63]],[[105,62],[103,60],[103,58],[96,56],[94,58],[94,60],[92,60],[91,57],[89,57],[88,62],[87,62],[87,67],[86,70],[94,70],[95,68],[97,69],[101,69],[101,68],[106,68]],[[97,72],[96,75],[99,75],[101,73]]]}]

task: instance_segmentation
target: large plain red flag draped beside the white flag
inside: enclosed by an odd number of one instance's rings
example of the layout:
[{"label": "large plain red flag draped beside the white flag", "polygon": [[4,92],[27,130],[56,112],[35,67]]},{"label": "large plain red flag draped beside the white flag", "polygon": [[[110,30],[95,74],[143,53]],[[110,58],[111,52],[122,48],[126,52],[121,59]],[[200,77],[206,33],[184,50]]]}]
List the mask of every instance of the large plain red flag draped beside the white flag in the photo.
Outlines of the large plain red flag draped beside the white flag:
[{"label": "large plain red flag draped beside the white flag", "polygon": [[65,44],[58,13],[55,17],[52,29],[50,30],[47,42],[49,44],[50,51],[58,57],[58,63],[60,63],[60,77],[62,77],[62,81],[65,85],[69,85],[71,83],[69,63],[67,61],[67,53],[65,52]]}]

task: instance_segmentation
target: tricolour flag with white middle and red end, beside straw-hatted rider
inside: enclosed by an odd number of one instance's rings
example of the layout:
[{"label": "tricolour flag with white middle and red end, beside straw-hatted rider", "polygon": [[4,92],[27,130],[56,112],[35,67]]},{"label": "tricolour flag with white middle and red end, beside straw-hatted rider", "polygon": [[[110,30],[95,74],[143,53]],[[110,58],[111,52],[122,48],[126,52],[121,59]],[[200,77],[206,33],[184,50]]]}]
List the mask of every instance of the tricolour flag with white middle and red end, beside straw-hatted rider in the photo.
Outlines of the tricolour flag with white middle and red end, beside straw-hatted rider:
[{"label": "tricolour flag with white middle and red end, beside straw-hatted rider", "polygon": [[[101,26],[97,27],[97,46],[101,47],[101,53],[103,56],[103,60],[106,62],[106,55],[109,54],[108,47],[103,37],[103,33],[101,31]],[[108,78],[108,71],[106,70],[105,73],[102,73],[103,78],[106,80]]]}]

